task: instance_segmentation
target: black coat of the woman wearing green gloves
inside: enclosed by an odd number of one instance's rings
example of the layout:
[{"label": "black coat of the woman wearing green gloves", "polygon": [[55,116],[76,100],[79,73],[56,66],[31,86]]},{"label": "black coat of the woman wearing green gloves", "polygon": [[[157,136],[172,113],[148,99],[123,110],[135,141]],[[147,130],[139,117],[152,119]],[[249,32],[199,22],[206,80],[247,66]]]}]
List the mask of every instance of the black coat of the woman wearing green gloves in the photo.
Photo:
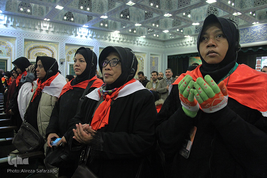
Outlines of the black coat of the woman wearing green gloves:
[{"label": "black coat of the woman wearing green gloves", "polygon": [[[179,154],[196,126],[190,155]],[[267,118],[228,98],[225,108],[195,118],[185,115],[173,85],[157,117],[156,135],[165,153],[168,177],[267,177]],[[253,176],[252,176],[253,175]]]}]

